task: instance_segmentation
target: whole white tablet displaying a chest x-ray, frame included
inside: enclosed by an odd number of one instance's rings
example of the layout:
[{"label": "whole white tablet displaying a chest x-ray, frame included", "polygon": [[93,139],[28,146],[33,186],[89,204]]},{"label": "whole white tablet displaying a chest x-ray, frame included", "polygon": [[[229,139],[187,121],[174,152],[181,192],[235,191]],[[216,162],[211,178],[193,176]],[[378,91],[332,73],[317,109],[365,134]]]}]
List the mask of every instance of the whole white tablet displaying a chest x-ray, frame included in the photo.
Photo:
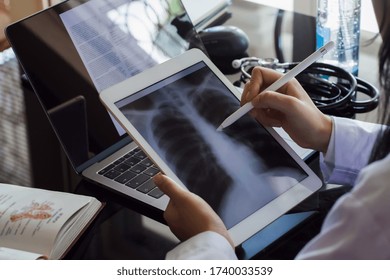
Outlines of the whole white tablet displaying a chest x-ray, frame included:
[{"label": "whole white tablet displaying a chest x-ray, frame included", "polygon": [[197,49],[100,94],[161,171],[211,205],[235,245],[322,185],[272,128],[249,114],[216,130],[239,108],[238,95]]}]

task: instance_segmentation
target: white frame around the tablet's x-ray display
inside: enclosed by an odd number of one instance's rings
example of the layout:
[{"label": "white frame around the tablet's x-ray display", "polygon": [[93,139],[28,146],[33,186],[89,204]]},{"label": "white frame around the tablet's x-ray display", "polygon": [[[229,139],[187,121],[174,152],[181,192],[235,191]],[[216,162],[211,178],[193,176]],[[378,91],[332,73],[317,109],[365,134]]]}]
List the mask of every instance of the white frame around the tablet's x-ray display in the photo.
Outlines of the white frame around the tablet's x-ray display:
[{"label": "white frame around the tablet's x-ray display", "polygon": [[[119,84],[116,84],[100,94],[100,99],[112,115],[125,128],[127,133],[140,146],[141,149],[155,162],[155,164],[166,175],[175,180],[185,188],[180,179],[172,172],[168,165],[160,158],[136,128],[128,121],[122,112],[115,105],[116,102],[139,92],[167,77],[180,72],[196,63],[204,62],[214,74],[225,84],[225,86],[239,98],[240,93],[234,85],[218,70],[209,58],[200,50],[191,49],[186,53],[173,58],[163,64],[150,68],[134,77],[131,77]],[[259,230],[270,224],[272,221],[296,206],[302,200],[313,194],[322,186],[319,177],[306,165],[306,163],[291,149],[291,147],[280,137],[274,129],[266,127],[273,138],[288,152],[295,162],[307,173],[307,177],[299,184],[281,194],[273,201],[254,212],[232,228],[228,229],[235,245],[241,244]]]}]

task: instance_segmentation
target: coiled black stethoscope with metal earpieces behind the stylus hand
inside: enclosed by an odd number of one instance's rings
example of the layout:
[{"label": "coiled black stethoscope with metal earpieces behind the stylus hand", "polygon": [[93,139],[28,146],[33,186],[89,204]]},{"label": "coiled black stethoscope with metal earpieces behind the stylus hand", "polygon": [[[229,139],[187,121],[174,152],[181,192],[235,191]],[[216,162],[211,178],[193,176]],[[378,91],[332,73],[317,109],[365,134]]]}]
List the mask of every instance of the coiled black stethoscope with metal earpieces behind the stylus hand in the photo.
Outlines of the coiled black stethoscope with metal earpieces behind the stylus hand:
[{"label": "coiled black stethoscope with metal earpieces behind the stylus hand", "polygon": [[[251,78],[256,66],[272,68],[282,73],[298,63],[279,63],[276,58],[245,57],[235,59],[232,66],[240,69],[241,77],[234,84],[241,86]],[[348,71],[327,63],[313,63],[296,79],[307,91],[314,104],[324,113],[354,117],[357,113],[374,110],[379,103],[379,91],[370,83],[355,77]],[[361,93],[365,98],[357,97]]]}]

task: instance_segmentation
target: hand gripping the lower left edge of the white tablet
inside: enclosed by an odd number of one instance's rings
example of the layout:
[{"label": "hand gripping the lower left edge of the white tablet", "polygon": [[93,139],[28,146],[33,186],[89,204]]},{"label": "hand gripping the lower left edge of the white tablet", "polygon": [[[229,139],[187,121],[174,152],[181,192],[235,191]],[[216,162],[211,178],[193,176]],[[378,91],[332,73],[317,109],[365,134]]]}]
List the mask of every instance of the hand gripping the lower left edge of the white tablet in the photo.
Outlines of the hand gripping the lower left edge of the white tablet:
[{"label": "hand gripping the lower left edge of the white tablet", "polygon": [[214,231],[225,237],[234,248],[224,223],[206,201],[165,175],[156,175],[154,182],[170,198],[164,218],[177,238],[185,241],[201,232]]}]

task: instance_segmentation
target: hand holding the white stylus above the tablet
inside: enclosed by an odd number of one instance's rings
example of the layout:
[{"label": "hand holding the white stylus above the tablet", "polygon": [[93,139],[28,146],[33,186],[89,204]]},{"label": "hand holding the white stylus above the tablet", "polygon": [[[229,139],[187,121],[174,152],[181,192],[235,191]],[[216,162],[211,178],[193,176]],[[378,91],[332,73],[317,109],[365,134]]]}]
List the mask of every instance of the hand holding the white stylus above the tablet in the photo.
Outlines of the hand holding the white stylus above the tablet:
[{"label": "hand holding the white stylus above the tablet", "polygon": [[245,85],[241,105],[251,101],[254,106],[251,115],[264,126],[282,127],[301,147],[326,153],[332,120],[314,105],[296,79],[278,92],[262,92],[281,76],[272,69],[254,68],[251,80]]}]

